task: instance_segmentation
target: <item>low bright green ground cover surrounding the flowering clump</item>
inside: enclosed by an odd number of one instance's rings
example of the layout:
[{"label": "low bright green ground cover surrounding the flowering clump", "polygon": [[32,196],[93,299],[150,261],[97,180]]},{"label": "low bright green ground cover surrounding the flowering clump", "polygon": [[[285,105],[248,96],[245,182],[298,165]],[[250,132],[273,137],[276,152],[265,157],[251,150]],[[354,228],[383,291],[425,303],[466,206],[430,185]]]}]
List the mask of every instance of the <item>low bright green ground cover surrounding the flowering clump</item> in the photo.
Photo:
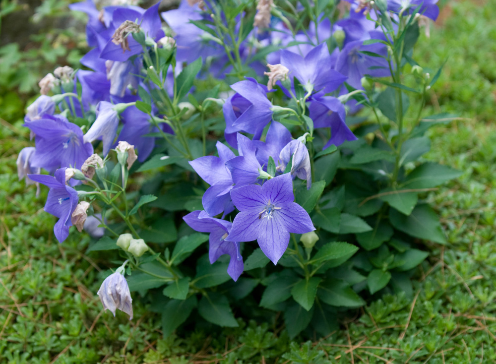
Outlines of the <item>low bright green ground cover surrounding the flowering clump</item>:
[{"label": "low bright green ground cover surrounding the flowering clump", "polygon": [[[448,244],[429,245],[413,300],[384,296],[332,336],[290,342],[280,321],[242,322],[209,335],[197,327],[163,339],[160,317],[135,298],[135,319],[103,312],[90,238],[58,244],[43,212],[47,189],[18,182],[15,159],[31,145],[22,121],[1,121],[0,358],[4,363],[494,363],[496,361],[496,5],[448,2],[442,27],[422,38],[417,59],[448,61],[427,112],[460,116],[431,129],[425,157],[464,172],[426,194]],[[483,52],[484,50],[484,52]],[[427,114],[426,114],[427,115]],[[105,264],[101,264],[105,266]]]}]

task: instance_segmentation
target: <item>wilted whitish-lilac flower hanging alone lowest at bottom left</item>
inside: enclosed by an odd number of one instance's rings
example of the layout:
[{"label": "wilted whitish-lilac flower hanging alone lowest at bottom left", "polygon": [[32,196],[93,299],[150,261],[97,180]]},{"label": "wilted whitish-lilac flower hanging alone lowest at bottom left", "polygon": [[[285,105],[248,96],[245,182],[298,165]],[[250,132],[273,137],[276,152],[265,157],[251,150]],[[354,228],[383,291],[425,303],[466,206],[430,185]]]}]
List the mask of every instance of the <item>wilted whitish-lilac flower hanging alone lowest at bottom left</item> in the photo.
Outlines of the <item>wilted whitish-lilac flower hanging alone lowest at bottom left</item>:
[{"label": "wilted whitish-lilac flower hanging alone lowest at bottom left", "polygon": [[114,317],[116,309],[127,313],[132,319],[132,299],[124,276],[115,272],[105,278],[97,292],[104,309],[109,309]]}]

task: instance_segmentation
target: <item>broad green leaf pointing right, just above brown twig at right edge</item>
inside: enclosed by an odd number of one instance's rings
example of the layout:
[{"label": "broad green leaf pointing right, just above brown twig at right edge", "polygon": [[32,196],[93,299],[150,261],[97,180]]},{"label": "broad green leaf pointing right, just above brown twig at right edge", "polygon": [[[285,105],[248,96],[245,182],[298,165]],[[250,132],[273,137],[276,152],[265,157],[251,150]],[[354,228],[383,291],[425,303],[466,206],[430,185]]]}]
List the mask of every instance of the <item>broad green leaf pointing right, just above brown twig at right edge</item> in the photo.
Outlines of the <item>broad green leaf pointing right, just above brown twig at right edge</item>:
[{"label": "broad green leaf pointing right, just above brown twig at right edge", "polygon": [[448,166],[429,162],[414,169],[401,183],[402,188],[432,188],[449,180],[458,178],[461,171]]}]

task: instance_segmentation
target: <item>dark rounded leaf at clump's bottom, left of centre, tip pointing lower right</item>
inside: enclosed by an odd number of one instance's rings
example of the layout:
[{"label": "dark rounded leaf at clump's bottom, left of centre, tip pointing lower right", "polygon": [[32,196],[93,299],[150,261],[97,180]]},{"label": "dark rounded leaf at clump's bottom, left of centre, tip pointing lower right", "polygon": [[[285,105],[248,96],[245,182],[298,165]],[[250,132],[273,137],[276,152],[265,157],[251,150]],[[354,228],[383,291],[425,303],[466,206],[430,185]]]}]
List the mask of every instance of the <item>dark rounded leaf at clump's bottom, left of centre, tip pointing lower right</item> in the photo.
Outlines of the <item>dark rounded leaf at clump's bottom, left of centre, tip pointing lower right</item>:
[{"label": "dark rounded leaf at clump's bottom, left of centre, tip pointing lower right", "polygon": [[209,293],[208,297],[203,296],[198,303],[198,313],[208,322],[222,327],[239,326],[229,307],[227,297],[218,293]]}]

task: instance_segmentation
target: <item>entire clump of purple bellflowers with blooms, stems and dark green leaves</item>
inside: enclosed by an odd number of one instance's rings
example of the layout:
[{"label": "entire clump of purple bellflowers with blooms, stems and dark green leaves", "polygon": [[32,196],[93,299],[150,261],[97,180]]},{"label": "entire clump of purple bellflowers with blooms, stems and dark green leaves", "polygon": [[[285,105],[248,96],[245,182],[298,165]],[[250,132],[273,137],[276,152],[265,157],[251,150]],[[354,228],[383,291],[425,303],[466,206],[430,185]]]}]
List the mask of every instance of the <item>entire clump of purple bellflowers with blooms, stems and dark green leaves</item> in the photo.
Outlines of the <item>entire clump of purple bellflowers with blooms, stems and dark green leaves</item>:
[{"label": "entire clump of purple bellflowers with blooms, stems and dark green leaves", "polygon": [[425,197],[460,175],[421,160],[452,119],[423,117],[441,68],[414,55],[437,6],[159,6],[71,5],[92,70],[45,76],[25,117],[19,177],[50,188],[60,243],[84,228],[86,253],[116,268],[104,308],[132,318],[137,292],[165,337],[188,318],[238,327],[233,308],[282,312],[294,338],[328,335],[372,295],[412,297],[417,241],[446,243]]}]

